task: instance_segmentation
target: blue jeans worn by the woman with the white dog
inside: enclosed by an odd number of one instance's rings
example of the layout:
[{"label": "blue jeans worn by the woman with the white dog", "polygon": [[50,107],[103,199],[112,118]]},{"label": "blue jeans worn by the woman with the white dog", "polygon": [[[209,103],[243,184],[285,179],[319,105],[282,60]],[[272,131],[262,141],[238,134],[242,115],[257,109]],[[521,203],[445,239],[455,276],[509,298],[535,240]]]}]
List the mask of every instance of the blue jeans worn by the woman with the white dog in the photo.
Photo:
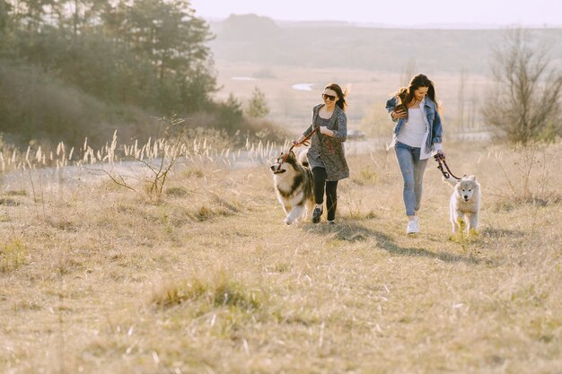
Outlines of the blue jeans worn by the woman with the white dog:
[{"label": "blue jeans worn by the woman with the white dog", "polygon": [[406,215],[414,215],[421,205],[421,196],[424,182],[424,171],[426,171],[427,160],[419,160],[421,148],[410,147],[409,145],[396,142],[394,152],[396,160],[404,178],[404,205]]}]

